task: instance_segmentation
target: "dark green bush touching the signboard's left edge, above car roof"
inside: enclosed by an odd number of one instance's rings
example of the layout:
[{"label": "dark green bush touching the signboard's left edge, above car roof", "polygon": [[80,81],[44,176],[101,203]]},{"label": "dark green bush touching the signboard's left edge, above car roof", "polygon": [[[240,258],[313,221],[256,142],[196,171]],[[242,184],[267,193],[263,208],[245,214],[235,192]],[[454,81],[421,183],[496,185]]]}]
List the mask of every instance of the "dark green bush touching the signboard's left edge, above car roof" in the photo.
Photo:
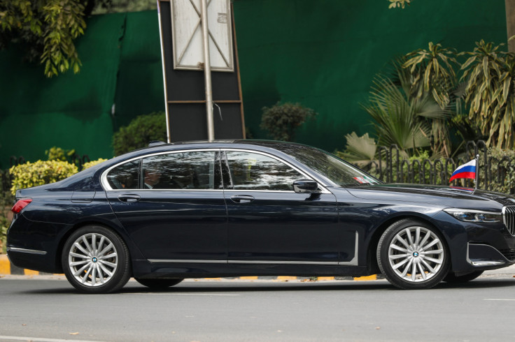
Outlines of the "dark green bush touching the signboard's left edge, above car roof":
[{"label": "dark green bush touching the signboard's left edge, above car roof", "polygon": [[128,126],[120,128],[113,135],[115,156],[146,147],[152,140],[167,141],[167,119],[164,112],[140,115]]}]

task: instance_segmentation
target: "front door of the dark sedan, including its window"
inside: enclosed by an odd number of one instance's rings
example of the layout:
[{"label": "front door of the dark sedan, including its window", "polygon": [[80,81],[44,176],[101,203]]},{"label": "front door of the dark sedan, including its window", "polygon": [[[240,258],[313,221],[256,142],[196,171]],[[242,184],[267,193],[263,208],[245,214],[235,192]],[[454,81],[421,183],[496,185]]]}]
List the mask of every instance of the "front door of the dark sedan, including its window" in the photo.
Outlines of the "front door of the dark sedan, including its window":
[{"label": "front door of the dark sedan, including its window", "polygon": [[336,198],[329,191],[295,193],[306,174],[269,154],[226,149],[228,262],[337,265]]}]

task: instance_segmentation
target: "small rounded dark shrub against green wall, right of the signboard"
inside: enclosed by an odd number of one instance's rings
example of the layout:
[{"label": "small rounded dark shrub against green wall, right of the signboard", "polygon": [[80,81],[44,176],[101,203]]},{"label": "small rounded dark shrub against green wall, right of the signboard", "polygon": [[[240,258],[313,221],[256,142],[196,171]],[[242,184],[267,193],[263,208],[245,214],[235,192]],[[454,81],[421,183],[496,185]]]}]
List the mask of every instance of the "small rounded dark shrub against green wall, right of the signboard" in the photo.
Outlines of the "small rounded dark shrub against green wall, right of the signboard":
[{"label": "small rounded dark shrub against green wall, right of the signboard", "polygon": [[268,131],[274,140],[293,141],[295,130],[318,113],[300,103],[276,103],[262,108],[260,127]]}]

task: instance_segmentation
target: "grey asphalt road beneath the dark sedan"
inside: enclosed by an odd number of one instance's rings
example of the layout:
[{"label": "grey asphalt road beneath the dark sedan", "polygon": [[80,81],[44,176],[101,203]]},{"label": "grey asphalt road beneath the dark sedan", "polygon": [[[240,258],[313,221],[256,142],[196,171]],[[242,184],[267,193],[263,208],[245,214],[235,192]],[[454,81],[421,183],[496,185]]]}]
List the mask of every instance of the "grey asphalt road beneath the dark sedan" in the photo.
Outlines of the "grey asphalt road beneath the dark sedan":
[{"label": "grey asphalt road beneath the dark sedan", "polygon": [[2,342],[514,341],[514,319],[513,274],[411,291],[384,280],[188,280],[148,292],[130,281],[112,295],[0,278]]}]

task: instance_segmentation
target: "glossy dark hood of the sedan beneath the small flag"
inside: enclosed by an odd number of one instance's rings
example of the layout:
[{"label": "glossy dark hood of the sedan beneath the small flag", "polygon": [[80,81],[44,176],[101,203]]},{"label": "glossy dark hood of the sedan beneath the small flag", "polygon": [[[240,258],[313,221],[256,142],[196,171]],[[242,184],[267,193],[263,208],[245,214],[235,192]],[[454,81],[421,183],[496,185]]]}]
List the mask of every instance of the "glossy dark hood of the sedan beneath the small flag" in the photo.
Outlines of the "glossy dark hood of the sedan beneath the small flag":
[{"label": "glossy dark hood of the sedan beneath the small flag", "polygon": [[463,209],[498,211],[504,206],[515,205],[515,198],[510,195],[456,186],[377,184],[346,188],[346,190],[356,198],[365,200],[395,200]]}]

